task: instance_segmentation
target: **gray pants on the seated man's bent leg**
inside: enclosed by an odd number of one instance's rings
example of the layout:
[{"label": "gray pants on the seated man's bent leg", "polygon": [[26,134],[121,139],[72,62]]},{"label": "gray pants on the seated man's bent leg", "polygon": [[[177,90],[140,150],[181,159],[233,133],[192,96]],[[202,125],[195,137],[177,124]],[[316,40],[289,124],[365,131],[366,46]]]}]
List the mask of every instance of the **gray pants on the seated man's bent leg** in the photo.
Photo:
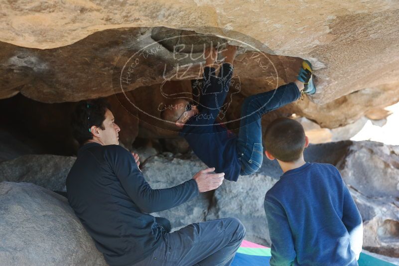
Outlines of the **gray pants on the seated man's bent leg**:
[{"label": "gray pants on the seated man's bent leg", "polygon": [[236,218],[191,224],[165,234],[161,245],[134,266],[229,266],[244,236]]}]

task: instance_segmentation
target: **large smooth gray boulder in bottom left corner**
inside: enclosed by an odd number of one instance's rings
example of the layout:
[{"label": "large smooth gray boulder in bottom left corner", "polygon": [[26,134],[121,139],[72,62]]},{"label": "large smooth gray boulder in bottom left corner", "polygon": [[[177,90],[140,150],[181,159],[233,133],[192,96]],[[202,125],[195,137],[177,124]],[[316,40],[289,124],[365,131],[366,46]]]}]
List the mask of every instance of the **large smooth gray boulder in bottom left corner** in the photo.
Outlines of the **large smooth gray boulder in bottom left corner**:
[{"label": "large smooth gray boulder in bottom left corner", "polygon": [[67,200],[29,183],[0,183],[1,265],[104,265]]}]

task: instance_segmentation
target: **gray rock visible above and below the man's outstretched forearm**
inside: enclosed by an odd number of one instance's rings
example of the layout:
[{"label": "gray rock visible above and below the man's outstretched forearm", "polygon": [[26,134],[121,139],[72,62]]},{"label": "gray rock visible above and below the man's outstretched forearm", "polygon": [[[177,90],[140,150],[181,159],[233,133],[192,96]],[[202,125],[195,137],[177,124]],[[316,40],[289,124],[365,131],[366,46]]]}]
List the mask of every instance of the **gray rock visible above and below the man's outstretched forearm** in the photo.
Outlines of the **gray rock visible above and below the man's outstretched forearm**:
[{"label": "gray rock visible above and below the man's outstretched forearm", "polygon": [[[179,185],[190,180],[198,171],[208,168],[196,156],[179,159],[170,156],[171,153],[164,154],[166,156],[156,155],[148,158],[142,169],[145,180],[155,189]],[[200,193],[189,202],[153,215],[169,219],[172,228],[205,221],[211,196],[211,192]]]}]

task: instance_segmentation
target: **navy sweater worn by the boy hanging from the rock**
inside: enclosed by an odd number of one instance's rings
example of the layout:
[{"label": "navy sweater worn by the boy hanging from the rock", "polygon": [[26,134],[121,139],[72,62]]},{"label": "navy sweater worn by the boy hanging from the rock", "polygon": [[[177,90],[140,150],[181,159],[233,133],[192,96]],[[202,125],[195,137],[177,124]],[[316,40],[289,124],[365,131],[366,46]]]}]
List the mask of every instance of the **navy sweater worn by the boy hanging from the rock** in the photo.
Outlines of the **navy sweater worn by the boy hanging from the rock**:
[{"label": "navy sweater worn by the boy hanging from the rock", "polygon": [[241,164],[236,149],[237,136],[223,124],[215,123],[224,105],[233,75],[233,66],[224,63],[216,76],[216,69],[204,68],[204,87],[198,105],[198,115],[191,117],[179,135],[190,144],[194,153],[225,179],[237,181]]}]

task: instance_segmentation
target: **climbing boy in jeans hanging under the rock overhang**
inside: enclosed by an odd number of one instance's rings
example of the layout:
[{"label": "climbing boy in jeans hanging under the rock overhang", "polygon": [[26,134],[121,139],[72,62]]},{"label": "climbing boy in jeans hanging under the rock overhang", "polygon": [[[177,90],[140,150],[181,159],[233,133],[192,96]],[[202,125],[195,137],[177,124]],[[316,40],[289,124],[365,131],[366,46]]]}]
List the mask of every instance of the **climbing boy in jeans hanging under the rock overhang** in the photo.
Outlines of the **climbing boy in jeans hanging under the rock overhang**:
[{"label": "climbing boy in jeans hanging under the rock overhang", "polygon": [[[298,78],[275,90],[247,97],[241,110],[240,131],[236,136],[224,124],[215,122],[224,105],[233,75],[237,46],[228,45],[222,51],[224,63],[216,75],[214,64],[218,51],[210,47],[205,52],[204,86],[198,106],[179,99],[176,109],[164,110],[161,118],[174,123],[194,153],[225,179],[237,181],[239,175],[256,172],[262,165],[262,124],[266,113],[298,100],[302,94],[314,94],[312,68],[303,61]],[[173,106],[173,105],[172,105]]]}]

